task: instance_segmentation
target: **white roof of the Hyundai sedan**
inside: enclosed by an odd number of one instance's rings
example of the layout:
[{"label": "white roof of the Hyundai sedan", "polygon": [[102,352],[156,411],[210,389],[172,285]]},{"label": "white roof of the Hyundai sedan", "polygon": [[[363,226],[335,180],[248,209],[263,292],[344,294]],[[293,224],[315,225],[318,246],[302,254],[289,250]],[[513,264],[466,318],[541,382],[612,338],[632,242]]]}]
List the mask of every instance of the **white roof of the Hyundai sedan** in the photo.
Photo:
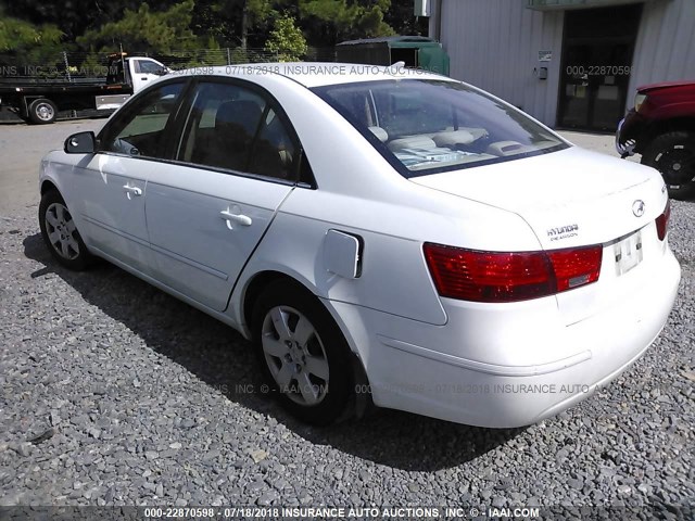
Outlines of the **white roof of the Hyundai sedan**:
[{"label": "white roof of the Hyundai sedan", "polygon": [[402,62],[391,66],[337,62],[247,63],[215,67],[193,67],[176,71],[174,74],[205,74],[223,77],[253,77],[262,74],[275,74],[292,79],[307,88],[405,78],[454,81],[452,78],[428,71],[404,67]]}]

